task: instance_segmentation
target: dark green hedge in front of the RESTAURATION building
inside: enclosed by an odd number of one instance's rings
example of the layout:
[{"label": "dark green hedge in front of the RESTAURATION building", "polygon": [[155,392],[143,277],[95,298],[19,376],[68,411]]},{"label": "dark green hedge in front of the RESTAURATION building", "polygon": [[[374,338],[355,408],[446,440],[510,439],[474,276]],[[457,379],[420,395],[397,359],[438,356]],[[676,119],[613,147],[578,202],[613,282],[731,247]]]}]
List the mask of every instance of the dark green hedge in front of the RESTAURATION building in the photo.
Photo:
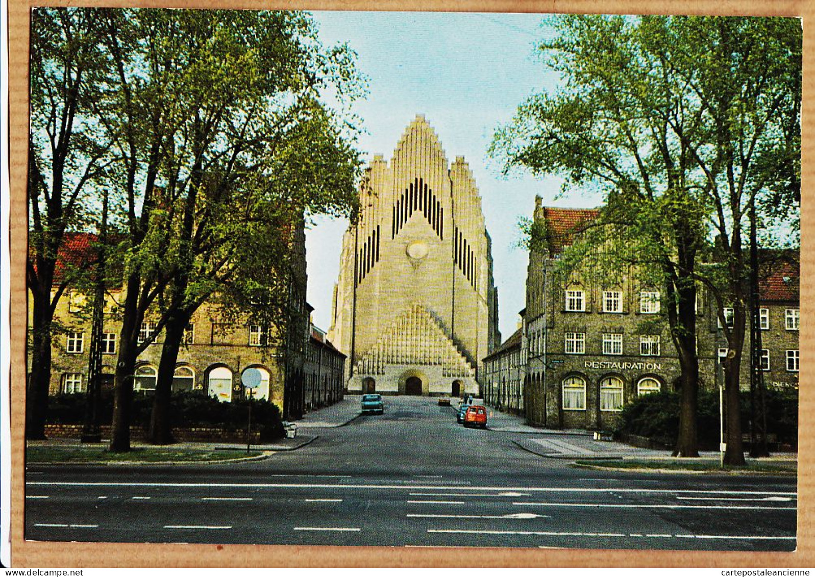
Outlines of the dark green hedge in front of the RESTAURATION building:
[{"label": "dark green hedge in front of the RESTAURATION building", "polygon": [[[680,395],[675,392],[646,394],[623,407],[620,414],[618,434],[634,434],[653,438],[660,443],[672,445],[679,434]],[[767,433],[773,434],[778,443],[798,445],[798,391],[766,391],[764,397],[767,413]],[[750,393],[741,394],[742,431],[750,432]],[[719,393],[699,391],[698,397],[698,443],[703,450],[715,450],[719,446]]]}]

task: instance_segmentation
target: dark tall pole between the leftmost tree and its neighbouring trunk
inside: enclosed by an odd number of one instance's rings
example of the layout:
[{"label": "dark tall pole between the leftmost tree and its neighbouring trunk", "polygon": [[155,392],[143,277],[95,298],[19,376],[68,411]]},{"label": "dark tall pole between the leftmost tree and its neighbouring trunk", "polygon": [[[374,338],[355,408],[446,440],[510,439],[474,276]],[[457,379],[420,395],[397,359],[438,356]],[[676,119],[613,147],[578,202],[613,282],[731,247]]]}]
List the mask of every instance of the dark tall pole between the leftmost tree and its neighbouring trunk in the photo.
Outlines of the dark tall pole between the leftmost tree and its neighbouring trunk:
[{"label": "dark tall pole between the leftmost tree and its neighbouring trunk", "polygon": [[96,278],[93,317],[90,325],[90,361],[88,362],[88,390],[85,401],[85,425],[82,443],[101,443],[99,429],[99,401],[102,396],[102,334],[104,330],[105,249],[108,244],[108,191],[102,200],[102,221],[97,238]]}]

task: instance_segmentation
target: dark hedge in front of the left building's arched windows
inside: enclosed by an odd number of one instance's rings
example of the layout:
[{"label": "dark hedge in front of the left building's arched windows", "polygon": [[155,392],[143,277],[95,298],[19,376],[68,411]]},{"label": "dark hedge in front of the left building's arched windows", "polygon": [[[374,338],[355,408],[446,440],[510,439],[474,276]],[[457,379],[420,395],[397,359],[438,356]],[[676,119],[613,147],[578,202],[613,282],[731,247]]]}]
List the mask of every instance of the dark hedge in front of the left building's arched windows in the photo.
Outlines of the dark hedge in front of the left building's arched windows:
[{"label": "dark hedge in front of the left building's arched windows", "polygon": [[[85,422],[85,393],[57,394],[48,401],[47,421],[51,424],[81,425]],[[133,399],[131,425],[148,427],[152,412],[152,395]],[[226,430],[246,428],[249,401],[222,403],[204,394],[174,393],[170,399],[170,422],[174,427],[218,427]],[[99,425],[110,425],[113,415],[111,397],[99,401]],[[280,409],[267,400],[252,401],[252,427],[260,431],[263,441],[282,438],[285,434]]]}]

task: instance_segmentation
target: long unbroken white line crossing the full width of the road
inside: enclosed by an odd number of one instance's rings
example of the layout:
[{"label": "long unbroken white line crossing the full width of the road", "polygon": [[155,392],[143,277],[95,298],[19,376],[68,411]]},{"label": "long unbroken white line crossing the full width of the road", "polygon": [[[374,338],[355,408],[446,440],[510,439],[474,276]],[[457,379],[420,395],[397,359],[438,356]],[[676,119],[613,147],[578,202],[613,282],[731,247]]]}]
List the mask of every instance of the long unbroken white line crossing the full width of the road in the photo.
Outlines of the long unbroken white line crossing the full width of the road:
[{"label": "long unbroken white line crossing the full width of the road", "polygon": [[[90,481],[28,481],[31,487],[227,487],[249,489],[372,489],[412,491],[461,491],[462,487],[452,485],[424,485],[418,487],[405,487],[404,485],[374,485],[374,484],[322,484],[322,483],[209,483],[209,482],[90,482]],[[797,496],[795,491],[724,491],[704,489],[646,489],[628,487],[467,487],[469,491],[534,491],[534,492],[570,492],[570,493],[665,493],[683,495],[776,495]]]}]

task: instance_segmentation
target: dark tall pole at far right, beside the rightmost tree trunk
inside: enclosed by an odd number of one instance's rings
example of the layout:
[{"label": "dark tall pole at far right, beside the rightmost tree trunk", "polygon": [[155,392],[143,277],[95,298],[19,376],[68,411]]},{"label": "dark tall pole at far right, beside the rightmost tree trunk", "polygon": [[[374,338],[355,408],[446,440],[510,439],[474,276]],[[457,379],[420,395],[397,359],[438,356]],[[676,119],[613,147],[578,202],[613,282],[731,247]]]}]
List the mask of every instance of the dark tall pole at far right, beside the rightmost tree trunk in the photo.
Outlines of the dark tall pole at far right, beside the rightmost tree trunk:
[{"label": "dark tall pole at far right, beside the rightmost tree trunk", "polygon": [[767,412],[764,407],[764,374],[761,368],[761,310],[759,249],[756,233],[756,199],[750,200],[750,456],[769,456]]}]

